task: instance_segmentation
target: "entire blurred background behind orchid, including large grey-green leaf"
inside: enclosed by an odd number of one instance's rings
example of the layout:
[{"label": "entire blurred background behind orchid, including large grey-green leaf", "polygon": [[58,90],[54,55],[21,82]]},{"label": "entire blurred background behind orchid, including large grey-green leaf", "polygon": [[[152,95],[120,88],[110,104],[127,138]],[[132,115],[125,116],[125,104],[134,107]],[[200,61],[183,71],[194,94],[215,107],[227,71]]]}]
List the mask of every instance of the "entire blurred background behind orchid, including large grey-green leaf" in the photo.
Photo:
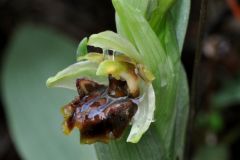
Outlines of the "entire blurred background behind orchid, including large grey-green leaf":
[{"label": "entire blurred background behind orchid, including large grey-green leaf", "polygon": [[[189,85],[199,3],[192,2],[182,58]],[[228,4],[208,4],[198,73],[201,101],[187,135],[187,154],[194,160],[240,159],[240,20]],[[111,1],[2,0],[0,19],[0,159],[96,159],[92,146],[79,144],[78,131],[71,136],[61,131],[60,107],[75,93],[47,89],[45,81],[75,61],[83,37],[115,30]]]}]

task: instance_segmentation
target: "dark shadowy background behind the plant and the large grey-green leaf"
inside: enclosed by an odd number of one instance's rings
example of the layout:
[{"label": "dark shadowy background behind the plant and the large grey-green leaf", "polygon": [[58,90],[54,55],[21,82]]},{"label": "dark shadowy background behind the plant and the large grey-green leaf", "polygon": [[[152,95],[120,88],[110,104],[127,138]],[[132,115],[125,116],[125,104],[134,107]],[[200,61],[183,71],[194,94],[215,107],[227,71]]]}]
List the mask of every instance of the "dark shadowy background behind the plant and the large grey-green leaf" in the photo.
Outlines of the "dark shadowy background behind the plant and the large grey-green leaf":
[{"label": "dark shadowy background behind the plant and the large grey-green leaf", "polygon": [[[193,1],[182,57],[190,85],[199,12],[200,2]],[[76,41],[92,33],[115,30],[110,0],[0,0],[1,61],[4,61],[4,51],[15,28],[24,22],[51,26]],[[226,81],[240,75],[240,19],[233,15],[227,0],[209,1],[207,23],[202,34],[205,39],[198,73],[201,102],[196,110],[190,155],[195,157],[200,148],[207,146],[227,145],[229,159],[237,160],[240,159],[240,132],[237,129],[240,128],[240,100],[221,109],[213,107],[212,102],[212,97],[221,91]],[[11,141],[0,104],[0,159],[21,159]],[[211,117],[216,113],[218,118],[214,123]],[[232,132],[236,136],[230,137],[230,141],[228,137]]]}]

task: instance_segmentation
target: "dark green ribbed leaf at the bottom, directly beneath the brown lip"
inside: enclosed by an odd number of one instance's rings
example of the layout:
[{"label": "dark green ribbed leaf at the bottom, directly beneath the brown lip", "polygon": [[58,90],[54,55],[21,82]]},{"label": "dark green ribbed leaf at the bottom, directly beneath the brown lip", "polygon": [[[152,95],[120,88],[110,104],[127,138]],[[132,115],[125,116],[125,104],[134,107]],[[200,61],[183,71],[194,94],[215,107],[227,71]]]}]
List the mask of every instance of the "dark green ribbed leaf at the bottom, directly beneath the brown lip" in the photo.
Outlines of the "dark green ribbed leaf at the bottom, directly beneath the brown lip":
[{"label": "dark green ribbed leaf at the bottom, directly beneath the brown lip", "polygon": [[129,130],[126,130],[120,140],[112,141],[110,144],[96,144],[99,160],[166,160],[154,127],[150,127],[141,140],[135,144],[126,142],[128,133]]}]

